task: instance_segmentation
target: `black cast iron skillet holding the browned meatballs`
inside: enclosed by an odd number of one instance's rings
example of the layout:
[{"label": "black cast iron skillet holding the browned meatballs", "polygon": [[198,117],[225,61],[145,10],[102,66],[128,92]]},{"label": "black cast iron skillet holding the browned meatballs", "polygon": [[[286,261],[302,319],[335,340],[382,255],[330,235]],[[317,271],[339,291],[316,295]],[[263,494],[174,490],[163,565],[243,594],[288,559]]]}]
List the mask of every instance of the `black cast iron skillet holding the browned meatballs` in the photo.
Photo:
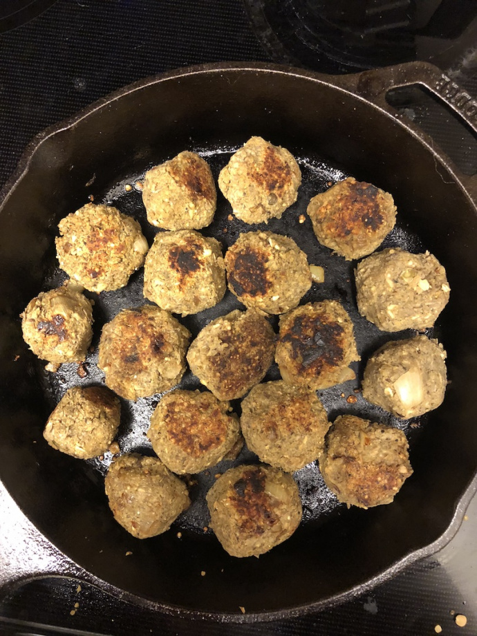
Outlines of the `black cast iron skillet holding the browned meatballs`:
[{"label": "black cast iron skillet holding the browned meatballs", "polygon": [[[10,532],[10,545],[3,548],[10,559],[4,582],[65,574],[163,611],[272,619],[362,592],[451,539],[476,489],[477,183],[459,174],[429,138],[387,106],[389,89],[411,84],[440,96],[475,130],[477,104],[427,64],[346,77],[225,64],[133,84],[32,143],[3,191],[0,210],[0,478],[10,511],[9,521],[1,522],[3,533]],[[386,245],[427,248],[447,268],[451,303],[435,335],[449,353],[451,384],[437,411],[411,423],[366,406],[353,392],[359,382],[324,391],[332,418],[352,412],[404,428],[414,475],[395,503],[364,511],[337,505],[317,470],[304,469],[297,478],[305,522],[297,533],[260,559],[234,559],[204,532],[207,514],[200,503],[173,530],[147,541],[133,539],[113,521],[101,474],[111,457],[81,462],[53,451],[41,437],[49,411],[67,386],[101,381],[94,355],[84,380],[73,365],[48,376],[22,342],[18,316],[39,290],[61,281],[53,248],[56,225],[88,195],[135,213],[140,193],[133,188],[125,194],[124,184],[134,183],[145,169],[183,149],[196,149],[217,174],[230,151],[251,135],[287,147],[301,162],[301,200],[283,221],[270,223],[270,229],[299,243],[310,230],[308,221],[303,227],[298,223],[299,213],[328,180],[352,174],[393,193],[400,221]],[[229,223],[228,212],[219,199],[217,221],[206,233],[230,244],[245,226]],[[140,220],[151,239],[153,232],[143,216]],[[303,302],[340,299],[355,322],[364,359],[385,340],[407,335],[382,334],[360,318],[352,266],[316,242],[303,241],[310,262],[327,270],[325,286]],[[97,326],[120,308],[143,302],[140,277],[135,274],[126,290],[97,298]],[[235,306],[229,295],[215,311],[223,314]],[[213,316],[198,315],[186,324],[197,333]],[[270,377],[277,377],[276,369]],[[190,374],[185,386],[194,386]],[[342,393],[357,395],[357,402],[347,402]],[[143,433],[153,406],[153,400],[124,403],[122,451],[149,451]],[[197,502],[198,490],[213,480],[213,474],[200,476],[193,490]]]}]

